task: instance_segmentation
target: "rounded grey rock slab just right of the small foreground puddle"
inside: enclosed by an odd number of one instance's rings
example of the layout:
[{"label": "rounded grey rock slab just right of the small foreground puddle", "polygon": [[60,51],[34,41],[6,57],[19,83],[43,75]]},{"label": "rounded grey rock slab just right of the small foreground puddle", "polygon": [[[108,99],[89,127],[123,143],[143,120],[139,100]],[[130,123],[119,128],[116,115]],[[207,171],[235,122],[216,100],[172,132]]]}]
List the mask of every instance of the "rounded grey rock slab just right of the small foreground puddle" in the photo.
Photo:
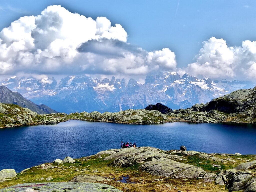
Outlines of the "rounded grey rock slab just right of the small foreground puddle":
[{"label": "rounded grey rock slab just right of the small foreground puddle", "polygon": [[179,163],[166,158],[143,163],[139,168],[153,175],[172,178],[197,178],[205,172],[194,165]]}]

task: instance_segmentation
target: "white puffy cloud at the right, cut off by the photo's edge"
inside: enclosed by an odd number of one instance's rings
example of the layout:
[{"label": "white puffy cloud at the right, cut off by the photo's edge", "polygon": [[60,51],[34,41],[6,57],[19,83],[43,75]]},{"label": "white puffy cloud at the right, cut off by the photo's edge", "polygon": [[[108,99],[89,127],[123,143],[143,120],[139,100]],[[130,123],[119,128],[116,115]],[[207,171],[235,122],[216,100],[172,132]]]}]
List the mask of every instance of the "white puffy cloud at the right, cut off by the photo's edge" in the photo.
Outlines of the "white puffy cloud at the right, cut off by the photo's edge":
[{"label": "white puffy cloud at the right, cut off by the photo's edge", "polygon": [[242,46],[231,47],[224,39],[211,37],[203,42],[196,62],[188,64],[185,70],[199,77],[256,80],[255,63],[255,41],[246,40]]}]

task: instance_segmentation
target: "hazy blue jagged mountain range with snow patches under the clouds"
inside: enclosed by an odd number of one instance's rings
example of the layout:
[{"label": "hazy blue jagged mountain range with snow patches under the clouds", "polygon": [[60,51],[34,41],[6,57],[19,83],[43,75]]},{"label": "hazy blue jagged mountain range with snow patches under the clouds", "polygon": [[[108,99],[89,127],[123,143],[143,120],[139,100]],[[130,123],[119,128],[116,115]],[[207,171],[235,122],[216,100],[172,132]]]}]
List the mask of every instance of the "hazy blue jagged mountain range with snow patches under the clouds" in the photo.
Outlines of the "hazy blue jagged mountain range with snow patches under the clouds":
[{"label": "hazy blue jagged mountain range with snow patches under the clouds", "polygon": [[162,103],[172,109],[207,103],[213,98],[241,88],[253,88],[255,82],[199,79],[189,74],[182,77],[177,72],[159,72],[148,75],[145,84],[130,79],[112,77],[92,79],[87,75],[68,76],[59,83],[51,78],[36,80],[18,78],[3,80],[0,85],[19,92],[36,104],[45,104],[59,112],[120,111],[142,109],[147,105]]}]

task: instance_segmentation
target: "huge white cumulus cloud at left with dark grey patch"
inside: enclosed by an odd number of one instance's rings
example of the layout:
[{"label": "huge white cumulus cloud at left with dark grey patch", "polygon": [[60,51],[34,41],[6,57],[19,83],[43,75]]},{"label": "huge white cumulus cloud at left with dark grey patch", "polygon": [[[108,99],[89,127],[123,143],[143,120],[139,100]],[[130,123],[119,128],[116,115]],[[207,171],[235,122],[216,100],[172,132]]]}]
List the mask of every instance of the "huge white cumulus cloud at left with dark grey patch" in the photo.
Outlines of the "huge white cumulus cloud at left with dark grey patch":
[{"label": "huge white cumulus cloud at left with dark grey patch", "polygon": [[48,6],[0,32],[0,74],[124,74],[175,70],[168,48],[147,52],[126,43],[127,32],[106,17],[95,20]]}]

